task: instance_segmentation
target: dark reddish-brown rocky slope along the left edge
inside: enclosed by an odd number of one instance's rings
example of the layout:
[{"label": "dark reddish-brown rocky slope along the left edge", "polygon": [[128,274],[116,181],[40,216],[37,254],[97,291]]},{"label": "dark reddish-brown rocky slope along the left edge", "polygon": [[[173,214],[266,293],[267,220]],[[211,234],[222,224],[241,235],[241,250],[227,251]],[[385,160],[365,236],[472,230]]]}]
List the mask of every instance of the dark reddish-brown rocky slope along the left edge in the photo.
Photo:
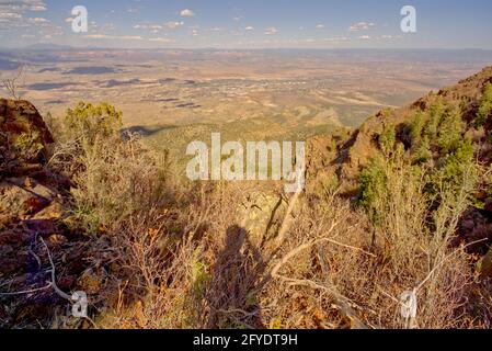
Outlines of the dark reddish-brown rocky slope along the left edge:
[{"label": "dark reddish-brown rocky slope along the left edge", "polygon": [[66,326],[70,292],[92,278],[96,246],[64,222],[70,181],[48,166],[53,143],[34,105],[0,100],[0,329]]}]

